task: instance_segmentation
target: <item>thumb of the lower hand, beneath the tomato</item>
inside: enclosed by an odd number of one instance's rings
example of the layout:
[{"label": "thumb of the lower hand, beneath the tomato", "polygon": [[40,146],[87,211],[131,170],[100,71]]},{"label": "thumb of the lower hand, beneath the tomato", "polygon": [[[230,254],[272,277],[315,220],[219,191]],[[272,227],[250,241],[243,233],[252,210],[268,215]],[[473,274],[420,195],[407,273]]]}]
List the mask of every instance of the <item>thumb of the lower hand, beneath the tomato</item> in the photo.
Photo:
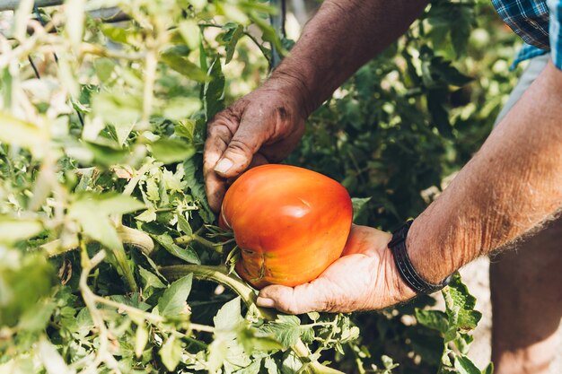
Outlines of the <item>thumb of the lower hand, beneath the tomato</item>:
[{"label": "thumb of the lower hand, beneath the tomato", "polygon": [[259,291],[257,304],[263,308],[275,308],[288,314],[302,314],[310,311],[328,311],[329,302],[319,278],[312,283],[296,287],[270,285]]}]

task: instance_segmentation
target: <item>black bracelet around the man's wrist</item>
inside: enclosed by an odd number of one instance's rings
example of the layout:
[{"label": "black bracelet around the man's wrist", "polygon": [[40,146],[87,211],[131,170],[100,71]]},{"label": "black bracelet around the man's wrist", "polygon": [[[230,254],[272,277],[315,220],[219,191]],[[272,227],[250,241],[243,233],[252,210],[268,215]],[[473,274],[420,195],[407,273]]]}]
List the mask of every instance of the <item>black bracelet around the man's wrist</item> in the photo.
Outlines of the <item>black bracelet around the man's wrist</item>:
[{"label": "black bracelet around the man's wrist", "polygon": [[417,293],[434,293],[451,283],[452,274],[446,277],[442,283],[433,284],[427,283],[421,275],[417,273],[416,269],[414,269],[414,266],[409,260],[408,249],[406,248],[406,238],[412,222],[414,221],[404,223],[400,229],[392,233],[389,248],[391,248],[392,255],[394,256],[394,262],[396,263],[400,276],[404,282],[408,284],[409,288]]}]

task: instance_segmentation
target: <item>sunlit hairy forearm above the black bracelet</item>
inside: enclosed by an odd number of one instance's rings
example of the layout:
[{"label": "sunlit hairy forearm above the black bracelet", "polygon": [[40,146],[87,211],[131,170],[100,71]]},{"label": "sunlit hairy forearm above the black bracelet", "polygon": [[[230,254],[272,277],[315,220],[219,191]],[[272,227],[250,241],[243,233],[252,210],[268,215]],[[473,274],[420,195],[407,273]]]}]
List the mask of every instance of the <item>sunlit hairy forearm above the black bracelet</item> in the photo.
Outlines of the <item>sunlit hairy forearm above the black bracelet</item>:
[{"label": "sunlit hairy forearm above the black bracelet", "polygon": [[429,282],[512,241],[562,205],[562,72],[549,64],[452,184],[413,223]]}]

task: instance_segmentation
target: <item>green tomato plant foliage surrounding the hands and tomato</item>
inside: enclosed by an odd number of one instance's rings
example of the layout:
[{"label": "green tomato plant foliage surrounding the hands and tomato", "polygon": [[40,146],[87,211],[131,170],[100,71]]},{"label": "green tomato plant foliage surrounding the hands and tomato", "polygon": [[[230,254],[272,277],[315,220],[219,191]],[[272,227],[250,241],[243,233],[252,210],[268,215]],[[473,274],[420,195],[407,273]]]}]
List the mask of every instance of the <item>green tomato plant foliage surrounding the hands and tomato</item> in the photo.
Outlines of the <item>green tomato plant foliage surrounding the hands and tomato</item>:
[{"label": "green tomato plant foliage surrounding the hands and tomato", "polygon": [[[86,13],[101,5],[131,20]],[[357,222],[390,229],[418,213],[420,191],[485,134],[508,78],[497,68],[465,84],[491,63],[486,43],[467,44],[473,5],[436,2],[312,117],[292,161],[364,197]],[[0,371],[478,372],[465,356],[478,314],[458,281],[444,313],[415,311],[421,298],[354,320],[294,317],[258,309],[222,265],[231,239],[206,204],[205,125],[265,76],[270,43],[290,45],[271,11],[68,0],[2,15],[13,28],[0,38]],[[449,60],[466,48],[461,74]],[[420,324],[402,322],[414,314]]]}]

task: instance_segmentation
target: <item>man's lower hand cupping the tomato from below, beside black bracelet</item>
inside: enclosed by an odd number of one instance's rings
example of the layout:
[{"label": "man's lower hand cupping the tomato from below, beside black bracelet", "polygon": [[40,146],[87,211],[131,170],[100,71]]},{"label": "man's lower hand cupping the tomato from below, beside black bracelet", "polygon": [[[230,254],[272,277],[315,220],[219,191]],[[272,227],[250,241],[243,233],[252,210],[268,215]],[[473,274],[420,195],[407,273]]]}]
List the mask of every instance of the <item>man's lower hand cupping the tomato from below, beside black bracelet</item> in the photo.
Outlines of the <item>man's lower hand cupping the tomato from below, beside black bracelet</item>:
[{"label": "man's lower hand cupping the tomato from below, beside black bracelet", "polygon": [[258,305],[301,314],[382,309],[411,299],[416,293],[401,280],[389,241],[388,232],[354,225],[342,257],[321,276],[294,288],[268,286],[259,291]]}]

